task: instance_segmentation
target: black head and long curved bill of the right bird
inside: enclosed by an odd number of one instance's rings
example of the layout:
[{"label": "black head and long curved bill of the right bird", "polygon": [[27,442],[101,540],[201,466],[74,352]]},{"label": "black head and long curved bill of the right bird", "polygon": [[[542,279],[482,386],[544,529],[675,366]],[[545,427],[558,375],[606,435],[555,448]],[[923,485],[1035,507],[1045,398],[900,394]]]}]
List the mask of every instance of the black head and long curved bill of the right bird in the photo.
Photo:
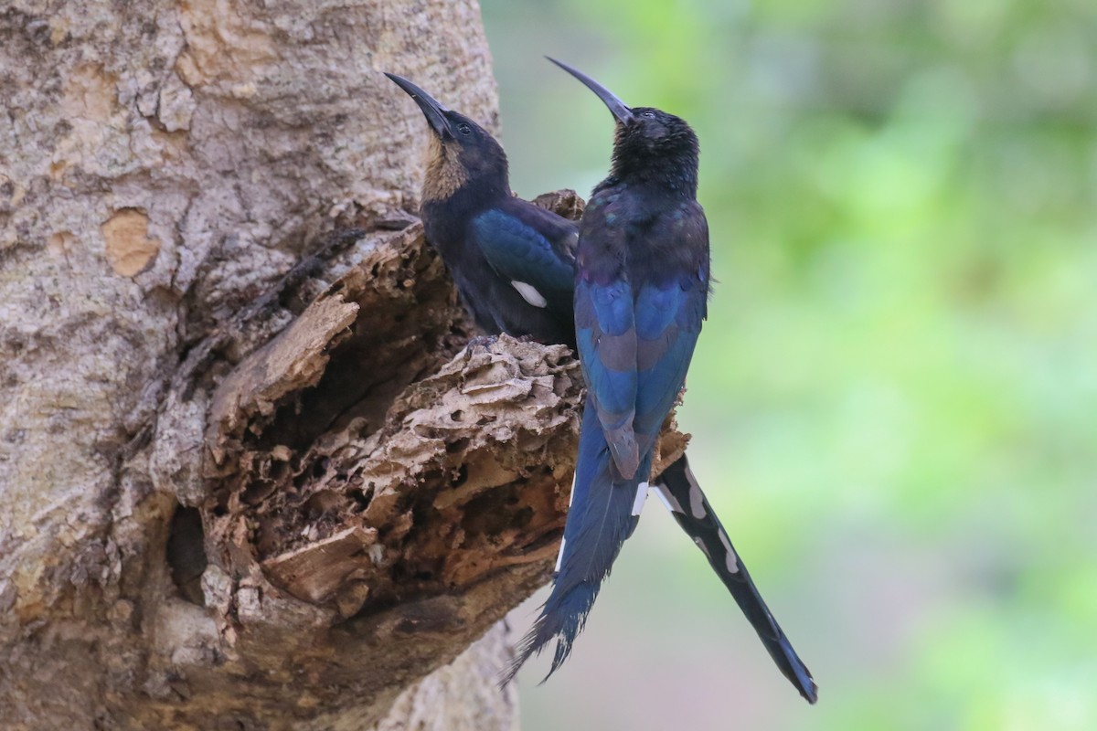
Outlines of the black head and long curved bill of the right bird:
[{"label": "black head and long curved bill of the right bird", "polygon": [[697,178],[697,134],[681,117],[652,106],[630,107],[583,71],[550,58],[590,89],[617,119],[613,137],[614,174],[652,173]]}]

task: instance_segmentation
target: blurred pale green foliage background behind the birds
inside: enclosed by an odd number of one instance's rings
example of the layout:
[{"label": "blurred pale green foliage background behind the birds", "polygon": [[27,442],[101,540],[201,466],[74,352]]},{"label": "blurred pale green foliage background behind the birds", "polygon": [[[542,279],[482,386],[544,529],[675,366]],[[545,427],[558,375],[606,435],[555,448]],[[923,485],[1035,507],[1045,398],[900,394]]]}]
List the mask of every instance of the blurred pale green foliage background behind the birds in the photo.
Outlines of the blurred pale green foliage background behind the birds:
[{"label": "blurred pale green foliage background behind the birds", "polygon": [[698,130],[719,284],[679,421],[821,688],[652,503],[523,728],[1097,728],[1097,4],[483,8],[520,194],[609,159],[541,54]]}]

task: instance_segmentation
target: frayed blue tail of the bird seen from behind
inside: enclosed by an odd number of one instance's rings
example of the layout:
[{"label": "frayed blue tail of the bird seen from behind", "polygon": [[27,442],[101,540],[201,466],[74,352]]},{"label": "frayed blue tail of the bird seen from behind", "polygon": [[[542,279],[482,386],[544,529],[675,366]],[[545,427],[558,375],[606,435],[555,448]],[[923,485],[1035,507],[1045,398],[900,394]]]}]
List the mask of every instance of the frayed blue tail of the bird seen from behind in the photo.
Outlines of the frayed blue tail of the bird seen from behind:
[{"label": "frayed blue tail of the bird seen from behind", "polygon": [[[648,454],[641,460],[636,476],[646,479],[651,465],[652,455]],[[545,679],[567,660],[572,643],[587,624],[587,615],[621,545],[636,528],[642,496],[646,493],[646,482],[626,480],[617,471],[597,412],[587,403],[583,410],[572,507],[564,524],[564,541],[552,594],[541,607],[533,628],[518,646],[514,660],[502,676],[504,685],[554,638],[557,639],[556,651]]]}]

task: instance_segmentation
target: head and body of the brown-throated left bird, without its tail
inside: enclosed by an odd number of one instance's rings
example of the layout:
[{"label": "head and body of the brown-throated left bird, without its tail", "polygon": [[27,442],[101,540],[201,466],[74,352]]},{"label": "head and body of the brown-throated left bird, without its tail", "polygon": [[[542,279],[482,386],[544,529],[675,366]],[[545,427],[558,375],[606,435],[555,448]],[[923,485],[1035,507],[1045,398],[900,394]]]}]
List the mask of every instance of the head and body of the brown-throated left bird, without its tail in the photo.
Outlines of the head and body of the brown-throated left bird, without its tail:
[{"label": "head and body of the brown-throated left bird, without its tail", "polygon": [[407,79],[385,76],[430,125],[420,218],[465,309],[489,335],[574,349],[575,224],[513,195],[507,155],[482,126]]}]

